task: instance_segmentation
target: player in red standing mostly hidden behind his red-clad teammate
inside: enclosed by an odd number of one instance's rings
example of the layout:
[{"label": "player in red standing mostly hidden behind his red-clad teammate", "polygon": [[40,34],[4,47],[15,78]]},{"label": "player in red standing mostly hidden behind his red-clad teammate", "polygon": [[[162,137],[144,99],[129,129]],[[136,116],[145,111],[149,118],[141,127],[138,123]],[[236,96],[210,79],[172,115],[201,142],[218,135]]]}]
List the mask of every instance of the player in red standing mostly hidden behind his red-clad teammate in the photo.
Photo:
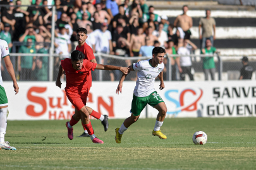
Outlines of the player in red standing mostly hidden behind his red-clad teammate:
[{"label": "player in red standing mostly hidden behind his red-clad teammate", "polygon": [[[94,56],[94,52],[90,46],[87,45],[85,40],[88,38],[87,36],[87,30],[85,28],[78,28],[76,30],[76,40],[78,41],[78,45],[76,46],[76,50],[82,52],[85,55],[85,59],[90,60],[90,62],[94,62],[97,64],[97,61]],[[89,72],[89,76],[92,77],[92,72]],[[89,87],[92,86],[92,82],[88,84]],[[89,92],[90,88],[88,88]],[[101,115],[101,113],[98,113],[97,111],[92,110],[90,107],[86,107],[89,114],[93,116],[94,118],[97,118],[101,120],[102,125],[104,126],[105,132],[107,131],[107,128],[109,127],[109,122],[108,122],[108,116],[107,115]],[[75,109],[75,112],[78,112],[78,110]],[[89,137],[88,132],[85,127],[83,127],[84,132],[82,135],[78,137]]]}]

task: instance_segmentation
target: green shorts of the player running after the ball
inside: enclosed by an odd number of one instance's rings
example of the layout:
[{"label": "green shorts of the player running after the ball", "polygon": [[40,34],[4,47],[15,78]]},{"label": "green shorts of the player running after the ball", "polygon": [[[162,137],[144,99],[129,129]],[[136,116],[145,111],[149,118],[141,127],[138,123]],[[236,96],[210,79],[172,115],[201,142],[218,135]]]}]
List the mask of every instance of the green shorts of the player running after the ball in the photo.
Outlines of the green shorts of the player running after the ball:
[{"label": "green shorts of the player running after the ball", "polygon": [[133,94],[133,101],[131,101],[131,113],[133,115],[138,116],[142,112],[142,110],[145,108],[147,104],[152,106],[154,108],[155,105],[158,103],[164,102],[162,98],[157,94],[156,91],[149,94],[149,96],[146,97],[137,97]]}]

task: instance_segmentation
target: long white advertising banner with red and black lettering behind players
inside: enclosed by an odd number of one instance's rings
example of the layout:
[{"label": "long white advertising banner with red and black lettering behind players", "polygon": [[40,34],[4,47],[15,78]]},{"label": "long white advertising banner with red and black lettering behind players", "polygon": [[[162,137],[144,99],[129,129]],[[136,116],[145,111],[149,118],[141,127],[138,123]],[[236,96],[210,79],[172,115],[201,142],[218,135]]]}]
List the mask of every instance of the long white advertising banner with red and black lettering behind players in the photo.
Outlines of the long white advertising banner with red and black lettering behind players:
[{"label": "long white advertising banner with red and black lettering behind players", "polygon": [[[256,116],[256,81],[165,82],[162,91],[155,82],[157,93],[166,103],[167,117],[236,117]],[[70,119],[74,108],[55,82],[18,82],[15,95],[13,84],[4,82],[8,96],[8,120]],[[135,82],[124,82],[123,93],[116,94],[118,82],[92,82],[87,106],[109,118],[130,116]],[[148,117],[157,110],[148,106]],[[140,118],[145,118],[145,109]]]}]

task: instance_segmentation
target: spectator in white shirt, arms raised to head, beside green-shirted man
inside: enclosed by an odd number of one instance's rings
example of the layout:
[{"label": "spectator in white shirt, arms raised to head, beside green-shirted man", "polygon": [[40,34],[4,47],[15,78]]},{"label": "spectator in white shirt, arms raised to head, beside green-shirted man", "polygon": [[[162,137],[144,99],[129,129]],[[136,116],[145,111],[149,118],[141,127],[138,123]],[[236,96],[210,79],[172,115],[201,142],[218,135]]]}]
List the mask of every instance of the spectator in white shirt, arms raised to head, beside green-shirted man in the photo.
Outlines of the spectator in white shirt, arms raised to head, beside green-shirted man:
[{"label": "spectator in white shirt, arms raised to head, beside green-shirted man", "polygon": [[190,80],[193,81],[194,77],[192,74],[192,61],[190,54],[192,50],[197,49],[197,46],[188,39],[185,39],[180,43],[181,45],[179,45],[180,48],[178,48],[177,53],[183,55],[183,57],[178,57],[176,60],[180,71],[180,80],[185,81],[185,75],[188,74]]}]

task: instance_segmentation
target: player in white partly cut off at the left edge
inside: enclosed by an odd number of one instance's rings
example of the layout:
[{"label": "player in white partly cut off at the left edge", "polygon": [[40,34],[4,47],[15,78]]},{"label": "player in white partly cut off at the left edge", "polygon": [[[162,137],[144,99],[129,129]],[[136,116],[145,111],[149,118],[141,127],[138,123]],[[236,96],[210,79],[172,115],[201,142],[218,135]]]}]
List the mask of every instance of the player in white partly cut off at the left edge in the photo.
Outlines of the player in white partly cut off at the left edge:
[{"label": "player in white partly cut off at the left edge", "polygon": [[[15,72],[13,69],[13,64],[11,64],[11,60],[9,59],[9,48],[6,41],[0,39],[0,51],[1,51],[1,59],[4,59],[4,63],[6,66],[6,69],[9,73],[9,76],[11,76],[11,79],[13,80],[13,88],[15,91],[15,94],[18,93],[19,87],[16,82],[15,78]],[[4,141],[4,135],[6,133],[6,127],[7,127],[7,116],[8,116],[8,99],[3,87],[3,79],[0,72],[0,149],[6,149],[6,150],[16,150],[15,147],[11,147],[9,145],[8,141]]]}]

